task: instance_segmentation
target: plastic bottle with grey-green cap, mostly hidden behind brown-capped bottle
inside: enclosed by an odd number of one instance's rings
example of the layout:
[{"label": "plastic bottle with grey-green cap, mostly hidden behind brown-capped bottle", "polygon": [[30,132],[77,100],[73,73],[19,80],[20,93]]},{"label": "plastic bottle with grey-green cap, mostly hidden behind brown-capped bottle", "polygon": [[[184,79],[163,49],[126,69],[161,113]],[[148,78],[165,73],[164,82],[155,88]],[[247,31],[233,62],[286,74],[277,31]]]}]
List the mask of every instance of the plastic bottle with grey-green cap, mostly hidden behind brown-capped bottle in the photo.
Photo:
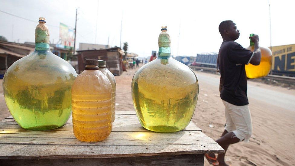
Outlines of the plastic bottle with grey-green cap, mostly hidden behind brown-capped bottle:
[{"label": "plastic bottle with grey-green cap, mostly hidden behind brown-capped bottle", "polygon": [[116,108],[116,80],[112,72],[106,68],[104,60],[98,60],[99,71],[108,77],[112,84],[112,122],[115,121],[115,108]]}]

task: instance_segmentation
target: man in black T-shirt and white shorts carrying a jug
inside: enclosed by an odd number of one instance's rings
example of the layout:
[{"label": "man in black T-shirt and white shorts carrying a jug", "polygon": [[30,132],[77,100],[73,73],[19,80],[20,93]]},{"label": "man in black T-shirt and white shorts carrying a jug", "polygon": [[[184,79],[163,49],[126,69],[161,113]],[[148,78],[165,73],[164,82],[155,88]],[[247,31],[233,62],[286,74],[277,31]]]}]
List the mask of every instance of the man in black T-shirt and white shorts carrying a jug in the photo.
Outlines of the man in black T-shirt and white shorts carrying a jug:
[{"label": "man in black T-shirt and white shorts carrying a jug", "polygon": [[[236,43],[240,36],[233,21],[222,21],[219,32],[223,42],[219,49],[217,63],[220,70],[220,97],[225,106],[225,130],[216,142],[224,149],[229,145],[244,141],[249,142],[252,134],[252,120],[247,98],[246,64],[259,65],[261,51],[257,35],[249,37],[254,42],[254,52]],[[228,165],[224,161],[224,154],[205,154],[206,159],[213,165]]]}]

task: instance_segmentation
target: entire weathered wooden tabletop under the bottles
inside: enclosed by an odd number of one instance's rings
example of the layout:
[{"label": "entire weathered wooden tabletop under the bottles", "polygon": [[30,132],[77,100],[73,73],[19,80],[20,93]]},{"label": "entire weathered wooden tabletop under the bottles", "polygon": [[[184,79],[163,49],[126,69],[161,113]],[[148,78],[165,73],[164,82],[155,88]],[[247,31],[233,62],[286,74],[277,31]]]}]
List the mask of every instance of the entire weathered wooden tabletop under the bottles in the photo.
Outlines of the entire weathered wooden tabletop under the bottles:
[{"label": "entire weathered wooden tabletop under the bottles", "polygon": [[77,140],[73,135],[71,118],[58,129],[31,131],[22,129],[12,117],[8,117],[0,122],[0,149],[0,159],[4,160],[122,158],[224,152],[193,122],[180,132],[151,132],[141,127],[134,111],[116,111],[111,135],[101,142]]}]

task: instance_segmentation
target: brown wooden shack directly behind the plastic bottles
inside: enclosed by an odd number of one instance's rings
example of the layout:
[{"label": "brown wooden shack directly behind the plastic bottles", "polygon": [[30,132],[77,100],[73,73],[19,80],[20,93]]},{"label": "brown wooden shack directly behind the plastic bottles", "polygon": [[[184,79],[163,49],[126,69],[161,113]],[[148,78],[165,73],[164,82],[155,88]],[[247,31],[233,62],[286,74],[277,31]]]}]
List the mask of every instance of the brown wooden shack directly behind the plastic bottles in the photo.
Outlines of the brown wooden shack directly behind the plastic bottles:
[{"label": "brown wooden shack directly behind the plastic bottles", "polygon": [[119,47],[101,50],[79,50],[77,52],[79,73],[84,71],[86,59],[105,60],[107,68],[114,76],[119,76],[123,73],[122,54]]}]

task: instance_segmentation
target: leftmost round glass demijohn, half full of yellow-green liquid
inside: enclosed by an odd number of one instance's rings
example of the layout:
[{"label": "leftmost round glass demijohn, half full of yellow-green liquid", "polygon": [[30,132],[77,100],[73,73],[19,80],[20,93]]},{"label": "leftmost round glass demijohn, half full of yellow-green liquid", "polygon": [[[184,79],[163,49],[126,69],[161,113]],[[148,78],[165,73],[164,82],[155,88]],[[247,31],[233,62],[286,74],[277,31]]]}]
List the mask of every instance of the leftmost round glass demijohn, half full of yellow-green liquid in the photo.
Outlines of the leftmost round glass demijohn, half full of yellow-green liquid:
[{"label": "leftmost round glass demijohn, half full of yellow-green liquid", "polygon": [[49,130],[66,123],[72,111],[71,88],[77,73],[49,48],[45,18],[35,29],[35,51],[6,71],[3,94],[15,121],[24,129]]}]

